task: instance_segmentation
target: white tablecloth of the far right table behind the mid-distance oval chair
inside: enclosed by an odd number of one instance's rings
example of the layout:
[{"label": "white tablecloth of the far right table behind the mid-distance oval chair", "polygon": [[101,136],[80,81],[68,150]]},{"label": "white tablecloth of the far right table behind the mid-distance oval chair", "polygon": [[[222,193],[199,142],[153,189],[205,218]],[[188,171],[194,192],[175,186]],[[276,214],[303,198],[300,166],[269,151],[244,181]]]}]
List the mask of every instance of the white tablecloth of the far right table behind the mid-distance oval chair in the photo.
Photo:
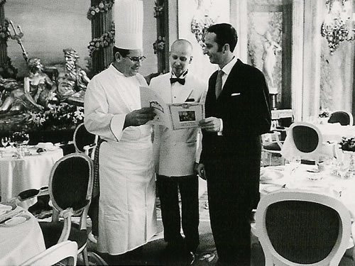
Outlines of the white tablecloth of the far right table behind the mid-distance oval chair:
[{"label": "white tablecloth of the far right table behind the mid-distance oval chair", "polygon": [[[320,129],[323,137],[322,149],[320,152],[321,157],[334,155],[334,153],[337,152],[336,149],[338,149],[337,143],[342,140],[343,136],[346,138],[355,137],[355,126],[342,126],[340,123],[325,123],[316,126]],[[292,140],[290,140],[289,135],[290,134],[286,136],[285,143],[283,143],[283,148],[281,150],[281,155],[283,155],[286,160],[290,160],[297,154],[297,149],[293,145]],[[332,144],[329,144],[328,142]],[[312,160],[311,157],[307,158],[307,156],[305,156],[304,159]]]}]

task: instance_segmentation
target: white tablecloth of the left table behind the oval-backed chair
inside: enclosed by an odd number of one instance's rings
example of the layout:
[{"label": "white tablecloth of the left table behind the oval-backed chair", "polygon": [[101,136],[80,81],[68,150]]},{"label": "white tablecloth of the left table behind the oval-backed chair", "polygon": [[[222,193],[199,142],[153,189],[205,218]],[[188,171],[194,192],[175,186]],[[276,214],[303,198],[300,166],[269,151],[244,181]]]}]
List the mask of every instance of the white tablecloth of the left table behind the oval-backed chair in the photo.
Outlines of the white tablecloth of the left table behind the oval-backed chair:
[{"label": "white tablecloth of the left table behind the oval-backed chair", "polygon": [[0,158],[0,192],[1,200],[6,201],[26,189],[40,189],[48,186],[50,170],[55,162],[63,156],[58,148],[43,153],[33,153],[16,159],[16,157]]}]

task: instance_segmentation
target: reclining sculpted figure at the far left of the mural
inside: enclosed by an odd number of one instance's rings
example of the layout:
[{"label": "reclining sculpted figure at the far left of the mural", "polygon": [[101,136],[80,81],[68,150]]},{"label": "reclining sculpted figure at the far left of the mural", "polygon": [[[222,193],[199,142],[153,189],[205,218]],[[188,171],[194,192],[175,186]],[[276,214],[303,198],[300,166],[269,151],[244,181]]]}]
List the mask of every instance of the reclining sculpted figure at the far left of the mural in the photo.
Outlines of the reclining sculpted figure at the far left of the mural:
[{"label": "reclining sculpted figure at the far left of the mural", "polygon": [[55,97],[57,87],[43,72],[43,65],[38,58],[28,60],[28,70],[29,75],[24,78],[24,84],[0,80],[0,87],[2,85],[9,92],[0,106],[1,113],[23,109],[43,110],[50,101],[57,100]]}]

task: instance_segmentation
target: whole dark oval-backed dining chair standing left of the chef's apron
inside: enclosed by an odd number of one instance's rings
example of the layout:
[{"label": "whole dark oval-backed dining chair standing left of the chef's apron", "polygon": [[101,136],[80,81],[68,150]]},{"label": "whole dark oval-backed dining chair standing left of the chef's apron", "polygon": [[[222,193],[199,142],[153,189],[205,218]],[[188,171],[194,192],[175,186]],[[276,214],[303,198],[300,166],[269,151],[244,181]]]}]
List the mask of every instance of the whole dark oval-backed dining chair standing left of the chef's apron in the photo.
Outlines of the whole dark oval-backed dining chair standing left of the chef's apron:
[{"label": "whole dark oval-backed dining chair standing left of the chef's apron", "polygon": [[[53,204],[52,221],[40,221],[45,247],[72,240],[77,243],[85,265],[87,256],[87,211],[92,197],[92,160],[82,153],[65,155],[50,172],[49,194]],[[73,223],[72,216],[80,216]]]}]

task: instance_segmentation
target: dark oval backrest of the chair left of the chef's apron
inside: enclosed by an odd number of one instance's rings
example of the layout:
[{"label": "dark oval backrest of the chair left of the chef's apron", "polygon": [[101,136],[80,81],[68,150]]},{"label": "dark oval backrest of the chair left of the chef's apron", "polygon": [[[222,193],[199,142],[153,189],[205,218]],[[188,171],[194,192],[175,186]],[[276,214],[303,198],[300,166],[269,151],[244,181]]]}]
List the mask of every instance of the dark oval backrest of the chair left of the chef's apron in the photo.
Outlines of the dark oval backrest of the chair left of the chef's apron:
[{"label": "dark oval backrest of the chair left of the chef's apron", "polygon": [[71,153],[60,158],[50,172],[49,193],[59,212],[72,208],[80,214],[92,196],[92,160],[82,153]]}]

